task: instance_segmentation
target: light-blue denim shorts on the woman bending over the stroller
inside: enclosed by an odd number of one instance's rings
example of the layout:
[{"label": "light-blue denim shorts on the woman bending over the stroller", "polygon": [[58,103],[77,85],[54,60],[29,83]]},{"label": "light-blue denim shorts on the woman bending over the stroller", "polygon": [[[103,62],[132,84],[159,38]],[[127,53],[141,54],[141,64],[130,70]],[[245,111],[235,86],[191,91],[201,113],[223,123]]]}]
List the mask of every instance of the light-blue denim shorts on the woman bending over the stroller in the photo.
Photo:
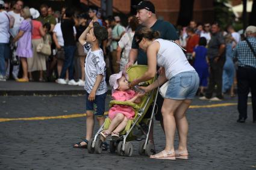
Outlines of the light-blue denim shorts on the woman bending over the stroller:
[{"label": "light-blue denim shorts on the woman bending over the stroller", "polygon": [[184,71],[171,77],[166,91],[166,99],[194,99],[198,91],[199,77],[196,71]]}]

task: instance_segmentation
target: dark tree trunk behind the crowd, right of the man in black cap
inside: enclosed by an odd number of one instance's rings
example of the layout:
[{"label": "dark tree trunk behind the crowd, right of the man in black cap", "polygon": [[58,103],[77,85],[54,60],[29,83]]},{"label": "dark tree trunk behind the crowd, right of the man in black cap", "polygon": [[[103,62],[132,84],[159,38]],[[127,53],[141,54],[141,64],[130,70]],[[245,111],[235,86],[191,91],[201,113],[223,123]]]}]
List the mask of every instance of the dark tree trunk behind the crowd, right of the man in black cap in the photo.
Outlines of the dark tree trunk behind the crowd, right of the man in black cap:
[{"label": "dark tree trunk behind the crowd, right of the man in black cap", "polygon": [[177,25],[187,26],[190,20],[193,19],[194,0],[180,0],[180,12]]}]

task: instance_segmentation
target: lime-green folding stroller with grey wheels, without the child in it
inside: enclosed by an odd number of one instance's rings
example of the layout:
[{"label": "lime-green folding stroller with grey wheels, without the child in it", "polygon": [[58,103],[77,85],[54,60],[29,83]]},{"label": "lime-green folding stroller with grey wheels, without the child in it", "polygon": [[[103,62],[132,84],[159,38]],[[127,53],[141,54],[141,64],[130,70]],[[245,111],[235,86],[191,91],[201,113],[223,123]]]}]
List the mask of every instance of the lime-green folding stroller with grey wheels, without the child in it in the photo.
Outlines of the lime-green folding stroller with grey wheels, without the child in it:
[{"label": "lime-green folding stroller with grey wheels, without the child in it", "polygon": [[[148,70],[146,65],[134,65],[133,67],[128,68],[126,71],[129,77],[128,81],[132,81],[140,76],[142,76]],[[155,76],[147,82],[142,82],[139,86],[148,86],[153,83],[157,77]],[[152,123],[152,118],[155,111],[157,94],[158,90],[152,90],[147,93],[141,100],[139,104],[132,102],[122,102],[117,100],[110,101],[110,107],[113,105],[128,105],[134,109],[135,116],[133,120],[129,120],[125,129],[119,133],[120,138],[110,139],[110,153],[116,153],[119,156],[132,156],[133,154],[133,144],[131,141],[137,140],[140,141],[139,154],[150,156],[154,153],[154,144],[148,142],[149,130]],[[152,112],[149,118],[144,118],[146,112],[149,109],[149,106],[152,105]],[[157,109],[157,108],[156,108]],[[106,118],[104,124],[99,128],[98,132],[94,138],[90,139],[87,145],[87,150],[89,153],[102,153],[102,140],[99,138],[102,130],[108,129],[111,120]]]}]

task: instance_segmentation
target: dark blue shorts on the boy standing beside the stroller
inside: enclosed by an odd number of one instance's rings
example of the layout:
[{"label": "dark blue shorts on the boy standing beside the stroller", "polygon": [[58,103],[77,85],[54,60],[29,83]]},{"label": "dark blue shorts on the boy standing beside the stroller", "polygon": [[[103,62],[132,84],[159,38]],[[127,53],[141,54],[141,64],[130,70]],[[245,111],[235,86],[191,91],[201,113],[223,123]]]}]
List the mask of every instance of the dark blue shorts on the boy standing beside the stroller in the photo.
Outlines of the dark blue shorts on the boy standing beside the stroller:
[{"label": "dark blue shorts on the boy standing beside the stroller", "polygon": [[105,99],[107,93],[96,95],[95,100],[88,100],[89,93],[86,92],[86,111],[92,111],[93,115],[101,117],[105,112]]}]

